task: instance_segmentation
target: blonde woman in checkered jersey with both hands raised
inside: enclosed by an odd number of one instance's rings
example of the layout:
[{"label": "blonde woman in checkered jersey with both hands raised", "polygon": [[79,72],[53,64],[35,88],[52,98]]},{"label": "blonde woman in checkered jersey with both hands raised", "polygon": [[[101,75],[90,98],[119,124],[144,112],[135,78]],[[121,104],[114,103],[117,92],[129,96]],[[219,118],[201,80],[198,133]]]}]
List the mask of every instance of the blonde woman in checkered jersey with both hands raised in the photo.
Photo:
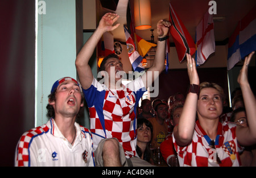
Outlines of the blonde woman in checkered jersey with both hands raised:
[{"label": "blonde woman in checkered jersey with both hands raised", "polygon": [[256,143],[256,101],[247,80],[247,67],[253,54],[246,57],[237,79],[249,127],[219,122],[223,90],[217,84],[200,84],[195,60],[187,54],[191,85],[179,125],[174,128],[174,145],[180,166],[240,166],[238,144],[249,146]]}]

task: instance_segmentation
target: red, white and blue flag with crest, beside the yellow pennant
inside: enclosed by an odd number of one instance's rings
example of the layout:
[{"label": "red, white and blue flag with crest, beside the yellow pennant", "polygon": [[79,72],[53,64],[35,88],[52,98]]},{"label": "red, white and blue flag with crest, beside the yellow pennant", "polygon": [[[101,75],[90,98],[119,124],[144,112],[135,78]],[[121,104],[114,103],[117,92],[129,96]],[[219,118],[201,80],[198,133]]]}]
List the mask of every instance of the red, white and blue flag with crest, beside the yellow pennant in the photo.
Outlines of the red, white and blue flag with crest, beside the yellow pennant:
[{"label": "red, white and blue flag with crest, beside the yellow pennant", "polygon": [[123,26],[123,28],[125,29],[126,46],[131,65],[133,66],[134,71],[141,72],[144,70],[141,63],[143,57],[139,55],[138,51],[136,51],[135,44],[133,39],[131,39],[131,35],[129,34],[127,28],[125,26]]}]

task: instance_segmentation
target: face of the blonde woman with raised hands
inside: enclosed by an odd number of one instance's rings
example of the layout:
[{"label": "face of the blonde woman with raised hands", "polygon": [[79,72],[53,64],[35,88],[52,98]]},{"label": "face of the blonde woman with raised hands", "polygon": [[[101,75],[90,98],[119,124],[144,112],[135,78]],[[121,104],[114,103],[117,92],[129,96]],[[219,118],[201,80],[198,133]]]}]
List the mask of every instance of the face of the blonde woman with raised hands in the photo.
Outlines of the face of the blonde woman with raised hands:
[{"label": "face of the blonde woman with raised hands", "polygon": [[222,113],[222,98],[214,88],[203,88],[197,102],[197,115],[200,118],[216,119]]}]

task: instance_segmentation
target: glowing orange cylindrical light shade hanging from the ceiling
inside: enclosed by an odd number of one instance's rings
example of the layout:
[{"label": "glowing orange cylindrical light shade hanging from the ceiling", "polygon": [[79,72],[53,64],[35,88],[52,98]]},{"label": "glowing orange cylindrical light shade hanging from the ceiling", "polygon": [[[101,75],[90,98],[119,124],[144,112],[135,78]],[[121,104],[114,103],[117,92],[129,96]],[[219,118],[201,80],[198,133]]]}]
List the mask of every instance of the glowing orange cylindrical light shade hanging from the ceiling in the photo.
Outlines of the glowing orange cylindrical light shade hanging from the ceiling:
[{"label": "glowing orange cylindrical light shade hanging from the ceiling", "polygon": [[134,20],[137,30],[151,28],[150,0],[134,0]]}]

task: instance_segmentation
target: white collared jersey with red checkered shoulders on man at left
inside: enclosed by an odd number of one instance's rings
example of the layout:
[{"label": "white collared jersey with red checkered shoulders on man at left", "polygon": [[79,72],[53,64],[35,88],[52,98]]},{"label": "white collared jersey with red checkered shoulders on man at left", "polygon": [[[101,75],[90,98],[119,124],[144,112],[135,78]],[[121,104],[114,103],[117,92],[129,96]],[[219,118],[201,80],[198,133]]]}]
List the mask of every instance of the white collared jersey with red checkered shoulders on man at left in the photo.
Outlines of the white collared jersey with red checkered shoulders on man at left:
[{"label": "white collared jersey with red checkered shoulders on man at left", "polygon": [[16,147],[15,166],[94,166],[92,135],[75,123],[73,145],[61,134],[54,119],[24,133]]}]

